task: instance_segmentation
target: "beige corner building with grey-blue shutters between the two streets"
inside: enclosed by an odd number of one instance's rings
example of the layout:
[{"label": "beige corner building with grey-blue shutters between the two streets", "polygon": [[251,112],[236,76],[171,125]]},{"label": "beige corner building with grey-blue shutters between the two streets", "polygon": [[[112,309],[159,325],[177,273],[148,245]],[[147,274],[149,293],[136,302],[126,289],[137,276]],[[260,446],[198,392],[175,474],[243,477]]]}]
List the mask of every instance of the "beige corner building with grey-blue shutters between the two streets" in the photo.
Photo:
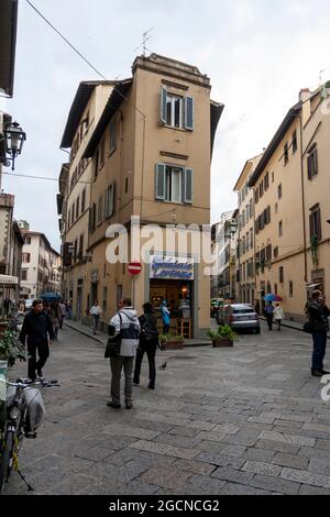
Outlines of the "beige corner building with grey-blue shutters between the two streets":
[{"label": "beige corner building with grey-blue shutters between the two streets", "polygon": [[[200,239],[204,224],[210,233],[210,165],[223,110],[211,101],[210,90],[210,79],[198,68],[156,54],[138,57],[132,77],[112,85],[80,155],[90,170],[88,239],[82,252],[87,258],[75,277],[75,263],[65,271],[77,319],[84,319],[98,299],[107,323],[118,300],[131,296],[139,314],[144,301],[160,309],[166,299],[174,333],[199,337],[209,328],[210,276],[204,274],[205,264],[193,241]],[[175,228],[191,223],[191,232]],[[106,257],[109,245],[117,242],[117,234],[107,237],[113,224],[122,226],[128,242],[128,253],[116,264]],[[157,226],[153,246],[145,245],[154,237],[148,224]],[[140,226],[136,244],[132,235]],[[167,245],[166,226],[170,227]],[[77,233],[66,231],[65,242],[74,239]],[[128,268],[131,260],[142,263],[141,274],[134,277]],[[74,262],[80,264],[79,254]]]}]

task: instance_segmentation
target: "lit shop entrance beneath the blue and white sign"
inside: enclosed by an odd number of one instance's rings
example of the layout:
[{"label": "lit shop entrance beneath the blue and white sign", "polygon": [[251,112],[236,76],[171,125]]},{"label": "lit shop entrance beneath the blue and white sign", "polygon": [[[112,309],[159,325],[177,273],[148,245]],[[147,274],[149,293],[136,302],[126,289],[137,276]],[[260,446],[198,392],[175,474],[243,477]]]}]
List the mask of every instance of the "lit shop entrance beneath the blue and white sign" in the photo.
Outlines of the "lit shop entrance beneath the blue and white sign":
[{"label": "lit shop entrance beneath the blue and white sign", "polygon": [[157,317],[158,331],[163,332],[161,305],[167,301],[170,310],[170,334],[193,338],[194,282],[176,279],[151,279],[150,300]]}]

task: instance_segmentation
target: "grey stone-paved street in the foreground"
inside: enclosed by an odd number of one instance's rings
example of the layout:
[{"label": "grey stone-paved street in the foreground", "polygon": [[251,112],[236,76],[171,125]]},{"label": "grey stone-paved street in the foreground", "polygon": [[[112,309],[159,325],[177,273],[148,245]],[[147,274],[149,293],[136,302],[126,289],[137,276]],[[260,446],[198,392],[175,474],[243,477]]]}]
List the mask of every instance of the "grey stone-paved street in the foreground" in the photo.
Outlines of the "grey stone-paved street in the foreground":
[{"label": "grey stone-paved street in the foreground", "polygon": [[[21,470],[34,494],[330,494],[330,403],[310,352],[302,332],[265,328],[233,350],[158,352],[156,391],[145,359],[134,409],[116,411],[103,346],[65,328],[45,369],[62,386],[44,389]],[[15,473],[4,493],[28,491]]]}]

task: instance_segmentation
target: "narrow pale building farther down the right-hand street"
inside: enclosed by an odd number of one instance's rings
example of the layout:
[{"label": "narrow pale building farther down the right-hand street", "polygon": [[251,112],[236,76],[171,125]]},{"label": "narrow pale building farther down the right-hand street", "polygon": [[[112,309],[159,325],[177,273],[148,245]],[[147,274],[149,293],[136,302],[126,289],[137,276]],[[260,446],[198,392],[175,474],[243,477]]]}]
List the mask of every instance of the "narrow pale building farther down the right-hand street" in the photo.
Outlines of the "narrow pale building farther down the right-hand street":
[{"label": "narrow pale building farther down the right-hand street", "polygon": [[234,186],[239,197],[237,249],[237,301],[255,301],[254,193],[249,182],[262,155],[248,160]]}]

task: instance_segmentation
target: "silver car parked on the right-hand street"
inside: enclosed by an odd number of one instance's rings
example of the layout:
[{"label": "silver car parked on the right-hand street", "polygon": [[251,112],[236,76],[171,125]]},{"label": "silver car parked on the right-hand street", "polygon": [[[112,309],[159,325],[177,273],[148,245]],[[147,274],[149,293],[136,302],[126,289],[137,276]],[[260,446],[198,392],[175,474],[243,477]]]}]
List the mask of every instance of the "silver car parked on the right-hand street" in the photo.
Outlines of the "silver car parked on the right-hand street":
[{"label": "silver car parked on the right-hand street", "polygon": [[217,317],[218,324],[229,324],[233,330],[253,330],[260,334],[260,320],[253,305],[232,304],[222,306]]}]

